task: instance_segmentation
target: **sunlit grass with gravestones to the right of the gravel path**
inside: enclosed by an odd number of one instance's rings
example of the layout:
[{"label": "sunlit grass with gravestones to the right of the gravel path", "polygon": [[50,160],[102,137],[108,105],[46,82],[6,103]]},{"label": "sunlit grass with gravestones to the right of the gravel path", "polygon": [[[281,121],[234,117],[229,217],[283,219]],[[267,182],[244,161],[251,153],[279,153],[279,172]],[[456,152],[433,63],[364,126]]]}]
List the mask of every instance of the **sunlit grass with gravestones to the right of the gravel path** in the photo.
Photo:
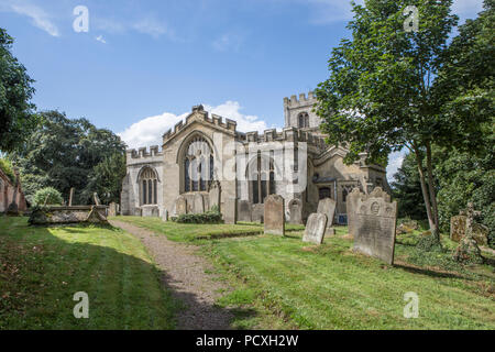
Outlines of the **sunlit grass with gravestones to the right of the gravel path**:
[{"label": "sunlit grass with gravestones to the right of the gravel path", "polygon": [[[125,220],[183,241],[193,240],[195,231],[234,233],[253,226],[199,226],[189,232],[172,222]],[[297,229],[285,238],[254,235],[198,244],[235,288],[218,304],[246,308],[235,316],[238,328],[495,329],[493,267],[454,264],[450,240],[443,239],[446,252],[424,255],[414,246],[420,231],[400,237],[396,265],[391,266],[352,252],[353,241],[345,233],[346,228],[338,228],[321,246],[301,242],[302,231]],[[408,292],[419,296],[417,319],[403,315]]]}]

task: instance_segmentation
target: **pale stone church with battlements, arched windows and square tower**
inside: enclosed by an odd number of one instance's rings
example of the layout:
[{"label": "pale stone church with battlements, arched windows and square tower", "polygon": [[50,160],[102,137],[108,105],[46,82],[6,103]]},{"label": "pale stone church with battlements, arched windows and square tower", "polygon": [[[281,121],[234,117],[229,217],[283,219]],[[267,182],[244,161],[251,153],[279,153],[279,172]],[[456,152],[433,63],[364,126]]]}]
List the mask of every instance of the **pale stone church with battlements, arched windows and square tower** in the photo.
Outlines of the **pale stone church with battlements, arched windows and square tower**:
[{"label": "pale stone church with battlements, arched windows and square tower", "polygon": [[286,216],[297,206],[304,220],[330,197],[337,201],[336,222],[345,223],[352,188],[389,189],[385,168],[366,165],[365,154],[344,165],[348,151],[324,143],[315,103],[312,92],[284,98],[285,128],[263,134],[240,132],[235,121],[194,107],[164,133],[162,148],[127,151],[122,215],[178,216],[218,207],[226,216],[234,207],[239,220],[263,221],[265,197],[277,194]]}]

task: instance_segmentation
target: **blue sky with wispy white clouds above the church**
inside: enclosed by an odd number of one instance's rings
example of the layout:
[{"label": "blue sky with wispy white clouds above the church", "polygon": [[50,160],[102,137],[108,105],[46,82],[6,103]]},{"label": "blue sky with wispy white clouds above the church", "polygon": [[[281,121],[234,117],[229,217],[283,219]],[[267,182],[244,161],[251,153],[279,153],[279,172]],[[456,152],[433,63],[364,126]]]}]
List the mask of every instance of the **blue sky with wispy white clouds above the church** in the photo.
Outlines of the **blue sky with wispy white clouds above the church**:
[{"label": "blue sky with wispy white clouds above the church", "polygon": [[[454,2],[462,19],[482,9]],[[87,33],[73,30],[77,6]],[[197,103],[240,130],[282,128],[283,98],[326,79],[350,18],[346,0],[0,0],[38,110],[86,117],[132,147],[158,144]]]}]

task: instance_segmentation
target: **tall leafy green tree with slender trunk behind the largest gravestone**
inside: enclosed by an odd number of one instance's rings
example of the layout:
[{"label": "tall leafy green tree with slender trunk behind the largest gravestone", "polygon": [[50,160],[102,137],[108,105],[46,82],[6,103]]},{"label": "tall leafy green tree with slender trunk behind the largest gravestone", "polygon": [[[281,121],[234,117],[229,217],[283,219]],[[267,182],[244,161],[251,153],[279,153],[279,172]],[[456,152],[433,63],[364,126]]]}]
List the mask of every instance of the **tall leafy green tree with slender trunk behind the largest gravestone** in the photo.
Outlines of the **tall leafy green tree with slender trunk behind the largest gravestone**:
[{"label": "tall leafy green tree with slender trunk behind the largest gravestone", "polygon": [[[408,148],[416,157],[433,244],[439,244],[439,221],[431,157],[432,143],[446,147],[465,139],[466,116],[455,123],[444,114],[446,89],[436,80],[447,59],[448,37],[458,18],[452,1],[365,0],[353,3],[348,25],[351,40],[342,40],[329,59],[330,78],[319,85],[317,113],[333,145],[346,143],[345,161],[367,153],[369,162]],[[405,9],[416,6],[418,31],[405,31]],[[475,134],[476,127],[468,133]],[[452,140],[449,140],[451,138]],[[424,167],[426,165],[426,167]],[[427,182],[428,179],[428,182]]]}]

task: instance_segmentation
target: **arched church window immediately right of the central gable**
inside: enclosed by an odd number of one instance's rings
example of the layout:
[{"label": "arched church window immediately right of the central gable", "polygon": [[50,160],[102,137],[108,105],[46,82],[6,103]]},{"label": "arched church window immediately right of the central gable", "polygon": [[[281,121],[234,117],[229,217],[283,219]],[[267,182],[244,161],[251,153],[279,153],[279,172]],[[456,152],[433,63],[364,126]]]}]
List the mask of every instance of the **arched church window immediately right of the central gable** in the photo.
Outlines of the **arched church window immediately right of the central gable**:
[{"label": "arched church window immediately right of the central gable", "polygon": [[248,173],[254,205],[263,204],[266,196],[276,193],[273,157],[268,161],[258,153],[257,157],[251,161]]}]

